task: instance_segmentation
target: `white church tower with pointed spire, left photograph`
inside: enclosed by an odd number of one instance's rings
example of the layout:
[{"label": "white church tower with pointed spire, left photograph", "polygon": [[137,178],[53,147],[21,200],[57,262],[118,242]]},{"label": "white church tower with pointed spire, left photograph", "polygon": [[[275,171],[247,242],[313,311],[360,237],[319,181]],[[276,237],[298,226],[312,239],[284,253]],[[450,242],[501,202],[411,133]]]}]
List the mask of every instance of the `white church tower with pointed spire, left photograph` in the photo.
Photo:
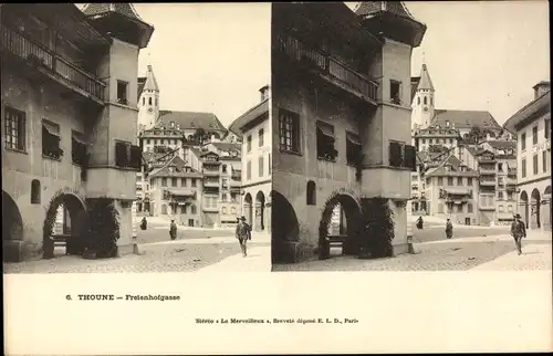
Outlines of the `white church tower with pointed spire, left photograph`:
[{"label": "white church tower with pointed spire, left photograph", "polygon": [[150,129],[159,117],[159,86],[148,65],[146,82],[138,98],[138,132]]}]

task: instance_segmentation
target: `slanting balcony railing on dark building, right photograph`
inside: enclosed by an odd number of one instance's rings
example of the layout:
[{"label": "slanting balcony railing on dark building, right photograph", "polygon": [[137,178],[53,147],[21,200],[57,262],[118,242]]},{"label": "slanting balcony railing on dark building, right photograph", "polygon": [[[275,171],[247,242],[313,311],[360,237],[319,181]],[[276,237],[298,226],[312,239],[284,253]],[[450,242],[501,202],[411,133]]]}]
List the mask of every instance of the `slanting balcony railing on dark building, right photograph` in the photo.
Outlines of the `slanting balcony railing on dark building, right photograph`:
[{"label": "slanting balcony railing on dark building, right photograph", "polygon": [[279,51],[284,53],[291,60],[299,63],[306,63],[322,72],[324,75],[331,76],[333,80],[347,86],[368,100],[376,102],[378,84],[371,81],[366,76],[357,73],[347,64],[330,56],[322,50],[312,49],[302,41],[286,34],[278,36]]}]

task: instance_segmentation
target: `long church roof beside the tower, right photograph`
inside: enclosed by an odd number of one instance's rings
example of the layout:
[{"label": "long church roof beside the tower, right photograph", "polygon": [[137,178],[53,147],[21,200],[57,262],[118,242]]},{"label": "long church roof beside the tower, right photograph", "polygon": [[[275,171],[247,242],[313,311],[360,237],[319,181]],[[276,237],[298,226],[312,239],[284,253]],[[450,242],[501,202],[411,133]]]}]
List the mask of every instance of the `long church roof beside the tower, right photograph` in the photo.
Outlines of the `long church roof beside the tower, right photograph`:
[{"label": "long church roof beside the tower, right photograph", "polygon": [[473,126],[492,130],[501,130],[501,126],[490,112],[480,111],[458,111],[458,109],[436,109],[432,118],[432,125],[446,127],[455,125],[457,129],[470,129]]}]

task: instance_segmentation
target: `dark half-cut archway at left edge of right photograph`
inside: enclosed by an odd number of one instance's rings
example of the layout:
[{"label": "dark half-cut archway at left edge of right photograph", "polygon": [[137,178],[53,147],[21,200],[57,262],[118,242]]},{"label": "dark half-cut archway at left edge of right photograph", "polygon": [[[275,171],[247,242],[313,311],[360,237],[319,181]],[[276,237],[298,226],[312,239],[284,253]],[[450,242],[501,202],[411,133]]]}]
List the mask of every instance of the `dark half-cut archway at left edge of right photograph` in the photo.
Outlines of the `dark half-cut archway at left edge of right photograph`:
[{"label": "dark half-cut archway at left edge of right photograph", "polygon": [[273,263],[295,261],[295,249],[300,240],[300,223],[294,207],[280,192],[271,191],[271,260]]}]

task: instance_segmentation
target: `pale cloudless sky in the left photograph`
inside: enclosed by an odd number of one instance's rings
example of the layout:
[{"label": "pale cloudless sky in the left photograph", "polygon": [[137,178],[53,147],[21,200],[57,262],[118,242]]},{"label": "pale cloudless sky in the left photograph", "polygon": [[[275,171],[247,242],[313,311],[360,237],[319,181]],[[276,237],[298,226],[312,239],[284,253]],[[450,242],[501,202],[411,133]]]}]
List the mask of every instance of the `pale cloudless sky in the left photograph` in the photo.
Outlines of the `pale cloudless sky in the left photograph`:
[{"label": "pale cloudless sky in the left photograph", "polygon": [[269,3],[133,3],[154,25],[138,56],[150,64],[161,109],[213,113],[225,126],[260,102],[270,84]]}]

